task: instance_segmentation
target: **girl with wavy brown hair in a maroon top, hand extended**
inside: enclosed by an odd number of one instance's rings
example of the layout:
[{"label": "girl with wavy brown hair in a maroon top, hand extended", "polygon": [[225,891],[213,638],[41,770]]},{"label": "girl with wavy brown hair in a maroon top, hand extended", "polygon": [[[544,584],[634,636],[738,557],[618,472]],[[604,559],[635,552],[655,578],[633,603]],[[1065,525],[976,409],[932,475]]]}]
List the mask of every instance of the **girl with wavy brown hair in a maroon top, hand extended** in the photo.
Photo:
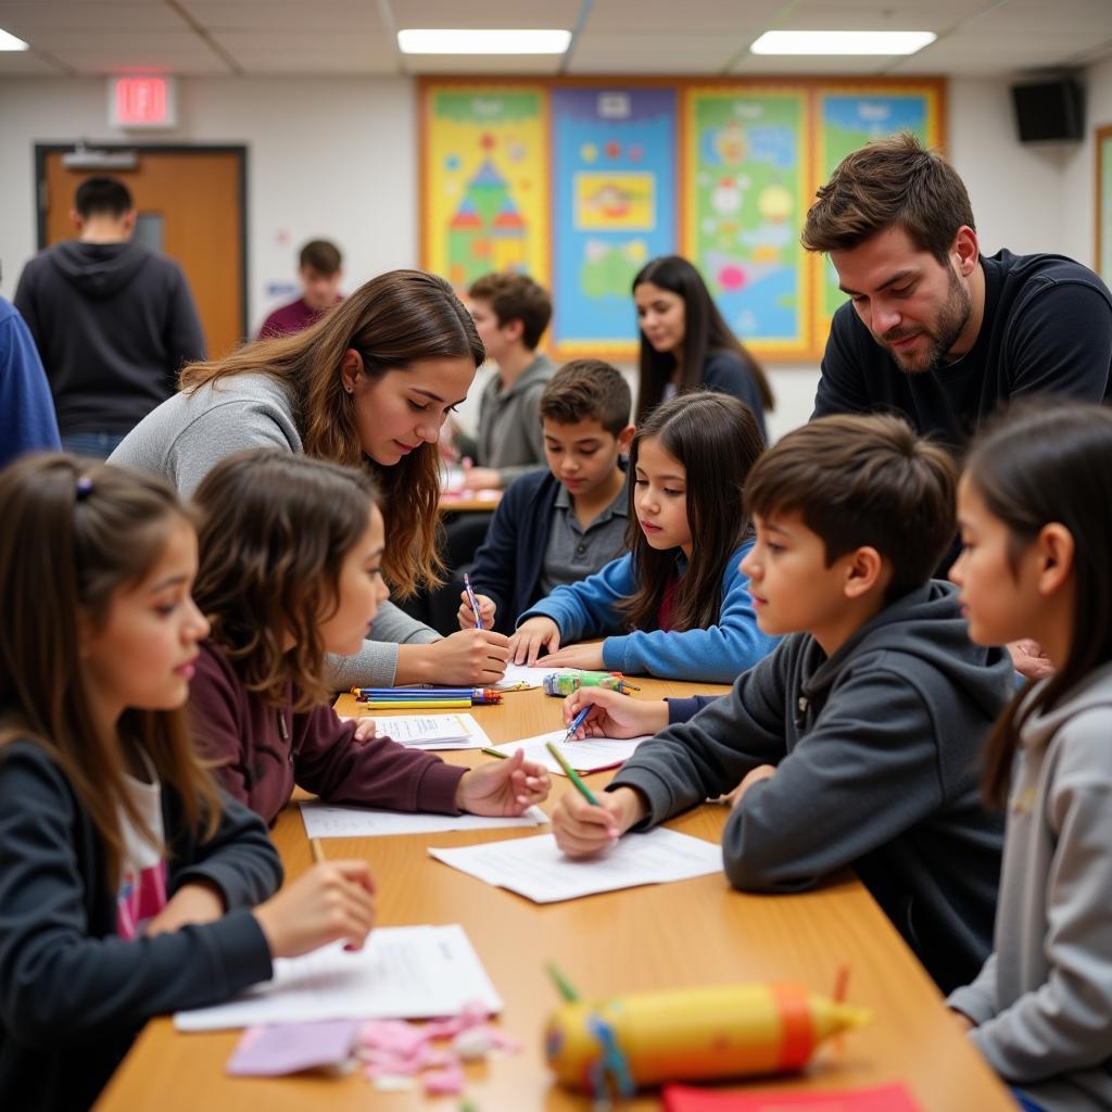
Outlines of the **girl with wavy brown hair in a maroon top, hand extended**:
[{"label": "girl with wavy brown hair in a maroon top, hand extended", "polygon": [[240,453],[197,488],[196,597],[212,631],[190,704],[221,784],[272,823],[295,783],[396,811],[516,815],[544,798],[543,765],[475,771],[375,737],[329,706],[326,653],[350,653],[386,598],[383,514],[365,471]]}]

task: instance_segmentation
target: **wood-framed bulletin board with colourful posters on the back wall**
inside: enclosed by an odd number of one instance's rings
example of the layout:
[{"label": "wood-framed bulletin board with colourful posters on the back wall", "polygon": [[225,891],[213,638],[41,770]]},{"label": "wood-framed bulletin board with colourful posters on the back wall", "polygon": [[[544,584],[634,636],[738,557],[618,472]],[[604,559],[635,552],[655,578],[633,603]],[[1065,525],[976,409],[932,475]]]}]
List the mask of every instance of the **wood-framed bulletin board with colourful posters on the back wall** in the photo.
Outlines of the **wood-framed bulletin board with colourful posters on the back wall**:
[{"label": "wood-framed bulletin board with colourful posters on the back wall", "polygon": [[815,190],[870,139],[945,147],[943,79],[424,78],[419,91],[421,265],[459,292],[490,270],[532,275],[553,294],[557,360],[634,358],[633,278],[673,252],[758,358],[817,359],[843,296],[800,245]]}]

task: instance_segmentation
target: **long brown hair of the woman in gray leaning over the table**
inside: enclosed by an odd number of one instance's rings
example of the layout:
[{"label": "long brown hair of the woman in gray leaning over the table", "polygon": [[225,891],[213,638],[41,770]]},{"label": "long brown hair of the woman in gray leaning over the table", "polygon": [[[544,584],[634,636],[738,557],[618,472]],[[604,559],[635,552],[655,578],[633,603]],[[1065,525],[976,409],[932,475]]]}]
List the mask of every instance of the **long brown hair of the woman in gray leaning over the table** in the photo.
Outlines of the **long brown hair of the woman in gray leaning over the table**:
[{"label": "long brown hair of the woman in gray leaning over the table", "polygon": [[411,595],[423,585],[438,585],[444,572],[437,553],[439,450],[423,444],[393,467],[367,458],[351,396],[340,380],[349,348],[359,353],[370,378],[404,370],[418,359],[464,358],[478,367],[486,358],[470,315],[443,278],[391,270],[360,286],[302,332],[190,364],[181,373],[181,388],[193,391],[244,374],[267,374],[290,384],[305,454],[363,465],[378,480],[389,537],[383,572],[394,590]]}]

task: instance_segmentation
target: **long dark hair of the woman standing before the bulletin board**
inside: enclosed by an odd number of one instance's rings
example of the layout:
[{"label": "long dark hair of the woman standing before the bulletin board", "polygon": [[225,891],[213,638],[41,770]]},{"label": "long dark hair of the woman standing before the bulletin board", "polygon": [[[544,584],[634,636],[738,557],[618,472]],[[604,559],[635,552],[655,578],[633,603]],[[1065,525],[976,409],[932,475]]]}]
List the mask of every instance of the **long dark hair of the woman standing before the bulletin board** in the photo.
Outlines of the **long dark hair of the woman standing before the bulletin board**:
[{"label": "long dark hair of the woman standing before the bulletin board", "polygon": [[[681,380],[677,389],[695,390],[703,381],[703,366],[715,351],[733,351],[741,357],[746,370],[753,376],[761,393],[765,409],[772,410],[776,398],[768,385],[764,368],[753,357],[753,353],[731,331],[729,325],[718,311],[703,276],[695,266],[679,255],[663,255],[651,259],[637,272],[633,289],[652,282],[675,294],[684,301],[684,345],[681,360]],[[665,388],[676,369],[676,358],[671,351],[657,351],[641,334],[638,355],[641,370],[637,387],[638,423],[659,405]]]}]

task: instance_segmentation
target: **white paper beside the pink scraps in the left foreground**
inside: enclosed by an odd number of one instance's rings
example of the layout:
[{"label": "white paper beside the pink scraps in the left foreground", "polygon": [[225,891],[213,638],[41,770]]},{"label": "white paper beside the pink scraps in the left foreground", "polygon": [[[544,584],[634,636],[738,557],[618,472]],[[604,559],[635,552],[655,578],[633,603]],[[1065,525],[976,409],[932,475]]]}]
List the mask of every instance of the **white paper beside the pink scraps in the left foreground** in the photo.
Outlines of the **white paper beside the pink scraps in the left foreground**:
[{"label": "white paper beside the pink scraps in the left foreground", "polygon": [[341,942],[275,961],[274,980],[226,1004],[178,1012],[179,1031],[220,1031],[315,1020],[456,1015],[471,1000],[500,1012],[502,999],[464,929],[384,926],[349,954]]}]

